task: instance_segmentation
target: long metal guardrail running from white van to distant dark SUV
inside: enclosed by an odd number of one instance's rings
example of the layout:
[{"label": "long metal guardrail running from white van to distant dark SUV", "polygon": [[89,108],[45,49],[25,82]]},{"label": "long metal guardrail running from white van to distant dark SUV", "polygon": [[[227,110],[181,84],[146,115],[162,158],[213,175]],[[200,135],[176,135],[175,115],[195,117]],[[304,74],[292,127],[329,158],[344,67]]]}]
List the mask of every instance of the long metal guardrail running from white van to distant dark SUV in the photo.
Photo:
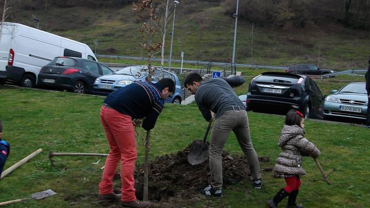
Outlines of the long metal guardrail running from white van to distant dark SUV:
[{"label": "long metal guardrail running from white van to distant dark SUV", "polygon": [[[146,57],[132,57],[132,56],[118,56],[118,55],[95,55],[96,57],[104,58],[116,58],[116,59],[131,59],[131,60],[146,60]],[[152,58],[152,60],[162,60],[161,58]],[[164,59],[164,61],[169,61],[169,59]],[[181,63],[181,60],[172,60],[172,62]],[[209,61],[198,61],[198,60],[183,60],[183,63],[193,63],[193,64],[208,64]],[[230,63],[226,62],[211,62],[212,65],[225,66]],[[285,70],[286,66],[267,66],[267,65],[256,65],[256,64],[241,64],[234,63],[234,66],[250,67],[250,68],[268,68],[272,70]]]}]

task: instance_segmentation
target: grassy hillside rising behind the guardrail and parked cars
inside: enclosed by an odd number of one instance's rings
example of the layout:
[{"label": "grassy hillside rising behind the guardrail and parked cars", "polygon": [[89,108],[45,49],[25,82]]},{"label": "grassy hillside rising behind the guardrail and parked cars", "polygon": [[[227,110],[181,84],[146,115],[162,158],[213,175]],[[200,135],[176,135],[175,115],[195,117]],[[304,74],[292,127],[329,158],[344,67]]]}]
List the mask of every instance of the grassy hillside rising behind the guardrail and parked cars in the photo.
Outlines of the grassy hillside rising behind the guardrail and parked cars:
[{"label": "grassy hillside rising behind the guardrail and parked cars", "polygon": [[[176,11],[173,57],[185,60],[231,62],[235,19],[225,15],[219,3],[196,2],[179,5]],[[49,8],[22,11],[13,15],[14,21],[36,27],[32,16],[40,19],[40,29],[87,43],[97,54],[143,56],[140,42],[145,38],[139,33],[131,6],[121,8],[89,9]],[[170,20],[168,31],[171,30]],[[236,63],[288,65],[313,63],[321,67],[343,70],[364,68],[369,59],[370,32],[345,28],[329,21],[320,25],[309,24],[305,28],[253,27],[238,21]],[[160,33],[157,40],[160,42]],[[171,36],[166,38],[168,58]],[[160,53],[156,55],[160,57]]]}]

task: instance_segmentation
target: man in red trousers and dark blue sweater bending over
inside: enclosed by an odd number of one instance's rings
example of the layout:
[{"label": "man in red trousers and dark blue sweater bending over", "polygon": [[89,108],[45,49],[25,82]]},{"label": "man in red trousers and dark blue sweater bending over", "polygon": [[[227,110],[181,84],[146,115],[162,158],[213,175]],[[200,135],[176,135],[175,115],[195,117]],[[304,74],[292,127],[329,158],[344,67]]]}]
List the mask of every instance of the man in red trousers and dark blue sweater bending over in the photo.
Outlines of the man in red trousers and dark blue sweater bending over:
[{"label": "man in red trousers and dark blue sweater bending over", "polygon": [[[133,172],[136,161],[134,118],[144,118],[142,127],[150,130],[156,124],[165,100],[175,91],[169,78],[159,82],[134,82],[111,93],[101,108],[100,119],[107,136],[110,151],[105,161],[99,183],[99,200],[119,201],[121,207],[150,207],[148,201],[138,201],[135,196]],[[121,193],[113,193],[113,176],[121,160]]]}]

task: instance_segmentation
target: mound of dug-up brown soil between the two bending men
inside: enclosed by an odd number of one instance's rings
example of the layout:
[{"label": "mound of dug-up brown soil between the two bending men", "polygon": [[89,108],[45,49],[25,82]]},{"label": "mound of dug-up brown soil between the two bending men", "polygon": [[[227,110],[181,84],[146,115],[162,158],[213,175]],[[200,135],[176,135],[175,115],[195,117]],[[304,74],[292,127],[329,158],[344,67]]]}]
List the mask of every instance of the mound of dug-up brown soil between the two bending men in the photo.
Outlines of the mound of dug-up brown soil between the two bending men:
[{"label": "mound of dug-up brown soil between the two bending men", "polygon": [[[178,207],[181,201],[196,199],[198,190],[210,183],[209,160],[199,165],[190,165],[187,160],[189,147],[149,163],[149,200],[158,202],[158,207]],[[224,187],[249,179],[250,171],[245,156],[230,156],[225,151],[222,156]],[[267,157],[259,159],[264,162],[269,160]],[[134,176],[136,197],[142,199],[143,165],[136,167]]]}]

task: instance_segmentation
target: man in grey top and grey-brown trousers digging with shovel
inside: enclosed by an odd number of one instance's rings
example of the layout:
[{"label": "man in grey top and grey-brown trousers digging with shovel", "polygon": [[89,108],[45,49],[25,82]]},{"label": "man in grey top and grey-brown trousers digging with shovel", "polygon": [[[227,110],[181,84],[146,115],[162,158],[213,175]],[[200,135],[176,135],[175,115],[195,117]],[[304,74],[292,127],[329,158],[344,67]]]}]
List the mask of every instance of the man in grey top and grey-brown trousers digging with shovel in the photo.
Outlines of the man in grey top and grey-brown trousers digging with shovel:
[{"label": "man in grey top and grey-brown trousers digging with shovel", "polygon": [[243,83],[244,79],[240,79],[240,77],[203,81],[197,73],[190,73],[184,80],[184,87],[195,95],[196,104],[204,119],[207,121],[214,119],[209,149],[209,168],[212,181],[210,185],[200,190],[200,194],[204,196],[222,196],[221,154],[232,130],[247,157],[251,171],[250,179],[254,181],[254,187],[260,189],[262,186],[261,168],[249,133],[247,111],[232,88]]}]

